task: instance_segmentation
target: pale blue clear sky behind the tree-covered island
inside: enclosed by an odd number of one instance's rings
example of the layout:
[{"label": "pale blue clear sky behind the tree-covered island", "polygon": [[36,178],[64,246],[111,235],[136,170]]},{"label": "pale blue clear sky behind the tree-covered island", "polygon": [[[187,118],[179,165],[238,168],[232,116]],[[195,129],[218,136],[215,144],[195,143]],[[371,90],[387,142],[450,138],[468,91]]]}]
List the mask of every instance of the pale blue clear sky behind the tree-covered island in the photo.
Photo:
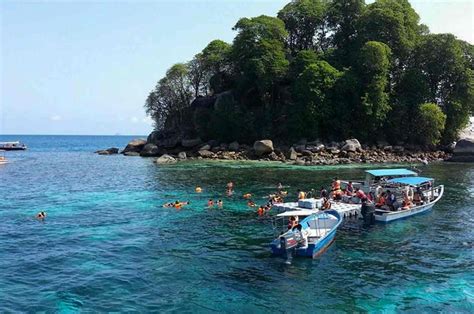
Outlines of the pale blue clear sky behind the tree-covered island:
[{"label": "pale blue clear sky behind the tree-covered island", "polygon": [[[0,0],[0,134],[147,134],[169,66],[287,2]],[[411,3],[433,33],[474,42],[474,1]]]}]

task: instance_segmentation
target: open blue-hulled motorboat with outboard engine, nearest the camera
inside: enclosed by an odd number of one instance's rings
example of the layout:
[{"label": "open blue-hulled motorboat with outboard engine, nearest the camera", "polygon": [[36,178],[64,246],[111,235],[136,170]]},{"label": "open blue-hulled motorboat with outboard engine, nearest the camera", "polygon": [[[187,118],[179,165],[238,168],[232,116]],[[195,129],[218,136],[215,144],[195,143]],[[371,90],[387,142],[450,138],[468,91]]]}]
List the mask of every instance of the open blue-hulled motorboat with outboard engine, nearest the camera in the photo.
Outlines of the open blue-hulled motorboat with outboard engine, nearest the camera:
[{"label": "open blue-hulled motorboat with outboard engine, nearest the camera", "polygon": [[[296,211],[280,214],[280,217],[294,216]],[[299,216],[300,218],[302,215]],[[316,258],[331,245],[337,228],[342,223],[342,216],[335,210],[312,213],[300,220],[301,232],[296,228],[279,235],[271,243],[272,253],[291,261],[293,256]]]}]

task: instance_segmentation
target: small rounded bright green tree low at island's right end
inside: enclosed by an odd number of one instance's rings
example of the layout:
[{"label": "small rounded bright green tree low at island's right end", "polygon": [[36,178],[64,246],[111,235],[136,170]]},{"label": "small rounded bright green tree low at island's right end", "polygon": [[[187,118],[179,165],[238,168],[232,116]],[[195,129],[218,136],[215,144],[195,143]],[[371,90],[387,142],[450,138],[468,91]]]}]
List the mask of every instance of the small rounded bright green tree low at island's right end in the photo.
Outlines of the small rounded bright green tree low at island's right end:
[{"label": "small rounded bright green tree low at island's right end", "polygon": [[439,106],[433,103],[421,104],[416,120],[418,143],[426,146],[437,145],[446,123],[446,115]]}]

